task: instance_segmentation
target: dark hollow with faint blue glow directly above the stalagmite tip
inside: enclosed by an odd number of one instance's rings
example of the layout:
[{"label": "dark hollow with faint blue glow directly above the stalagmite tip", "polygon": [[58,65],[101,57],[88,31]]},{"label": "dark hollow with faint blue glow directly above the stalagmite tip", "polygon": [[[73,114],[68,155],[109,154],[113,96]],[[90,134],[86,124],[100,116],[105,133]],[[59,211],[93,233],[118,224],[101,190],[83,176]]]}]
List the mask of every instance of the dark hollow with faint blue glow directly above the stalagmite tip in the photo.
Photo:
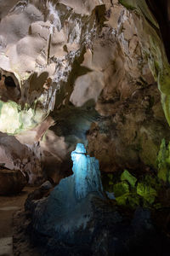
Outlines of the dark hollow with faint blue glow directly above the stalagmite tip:
[{"label": "dark hollow with faint blue glow directly above the stalagmite tip", "polygon": [[82,107],[77,108],[70,104],[62,106],[58,111],[52,113],[56,125],[50,130],[61,137],[65,137],[66,143],[76,146],[77,142],[86,141],[86,133],[92,122],[99,119],[99,113],[94,108],[94,100],[89,100]]}]

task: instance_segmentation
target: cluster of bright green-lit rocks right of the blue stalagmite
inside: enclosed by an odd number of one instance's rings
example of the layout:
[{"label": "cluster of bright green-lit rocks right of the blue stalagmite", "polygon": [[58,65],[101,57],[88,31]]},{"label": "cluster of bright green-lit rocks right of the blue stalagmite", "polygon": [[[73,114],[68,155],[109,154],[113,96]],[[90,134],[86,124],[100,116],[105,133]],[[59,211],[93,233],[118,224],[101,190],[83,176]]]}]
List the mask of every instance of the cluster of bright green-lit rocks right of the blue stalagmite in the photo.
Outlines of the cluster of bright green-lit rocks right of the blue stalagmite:
[{"label": "cluster of bright green-lit rocks right of the blue stalagmite", "polygon": [[114,178],[112,173],[107,174],[107,177],[108,184],[105,185],[105,188],[114,193],[117,205],[132,209],[139,205],[142,207],[161,207],[161,203],[158,201],[161,183],[157,177],[145,174],[138,180],[126,169],[119,177]]}]

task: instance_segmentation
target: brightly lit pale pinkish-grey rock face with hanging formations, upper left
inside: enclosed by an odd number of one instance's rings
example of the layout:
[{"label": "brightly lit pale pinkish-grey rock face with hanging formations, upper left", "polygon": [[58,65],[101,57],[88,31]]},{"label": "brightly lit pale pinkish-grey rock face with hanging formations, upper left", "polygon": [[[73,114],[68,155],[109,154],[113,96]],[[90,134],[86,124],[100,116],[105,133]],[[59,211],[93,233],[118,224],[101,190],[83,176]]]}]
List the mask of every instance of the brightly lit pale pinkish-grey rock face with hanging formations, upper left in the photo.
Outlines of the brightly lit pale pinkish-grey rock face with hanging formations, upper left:
[{"label": "brightly lit pale pinkish-grey rock face with hanging formations, upper left", "polygon": [[[65,93],[57,105],[65,100],[68,94],[65,85],[69,82],[74,61],[83,56],[86,44],[98,29],[92,10],[102,4],[100,0],[71,4],[65,1],[17,2],[8,1],[6,6],[0,3],[0,68],[3,74],[13,77],[20,88],[17,103],[26,110],[31,125],[22,128],[19,125],[18,131],[15,129],[13,133],[39,124],[53,111],[55,95],[60,89]],[[88,71],[85,68],[82,73]],[[97,98],[95,93],[94,97]],[[24,123],[25,119],[20,121]],[[3,130],[0,128],[0,131]]]}]

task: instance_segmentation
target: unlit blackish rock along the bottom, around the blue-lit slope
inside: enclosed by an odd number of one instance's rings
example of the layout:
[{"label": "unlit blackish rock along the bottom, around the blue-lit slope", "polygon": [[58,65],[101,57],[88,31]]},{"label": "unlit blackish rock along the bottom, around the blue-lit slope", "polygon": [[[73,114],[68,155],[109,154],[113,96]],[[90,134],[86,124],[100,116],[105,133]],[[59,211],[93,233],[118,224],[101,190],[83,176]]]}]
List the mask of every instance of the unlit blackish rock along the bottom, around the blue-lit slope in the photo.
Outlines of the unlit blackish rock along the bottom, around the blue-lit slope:
[{"label": "unlit blackish rock along the bottom, around the blue-lit slope", "polygon": [[[83,235],[80,232],[77,234],[79,235],[77,240],[66,243],[58,242],[54,236],[39,236],[38,233],[32,232],[29,213],[27,212],[26,215],[25,212],[17,212],[14,216],[14,255],[28,253],[36,256],[58,254],[142,256],[146,253],[154,256],[156,253],[158,255],[168,253],[169,240],[154,228],[149,210],[138,208],[133,214],[127,212],[126,215],[126,211],[123,211],[123,214],[114,210],[111,202],[95,200],[92,206],[94,222],[89,224],[89,233],[87,236],[84,234],[85,239],[84,237],[83,240],[80,239]],[[95,229],[90,230],[94,224]],[[88,244],[88,241],[91,243]]]}]

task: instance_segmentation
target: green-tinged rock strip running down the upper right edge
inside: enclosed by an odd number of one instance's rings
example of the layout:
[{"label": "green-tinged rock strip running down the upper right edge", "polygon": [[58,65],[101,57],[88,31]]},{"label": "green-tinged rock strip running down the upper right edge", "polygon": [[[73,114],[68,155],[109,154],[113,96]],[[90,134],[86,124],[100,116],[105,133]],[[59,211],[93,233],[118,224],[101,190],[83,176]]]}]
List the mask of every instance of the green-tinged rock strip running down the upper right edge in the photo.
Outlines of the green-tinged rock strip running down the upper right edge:
[{"label": "green-tinged rock strip running down the upper right edge", "polygon": [[[161,93],[161,105],[165,113],[167,123],[170,125],[170,65],[167,61],[167,55],[162,42],[160,28],[156,19],[150,12],[144,0],[119,0],[125,8],[131,11],[139,19],[136,22],[136,28],[140,42],[143,46],[144,58],[148,61],[150,71],[158,84]],[[143,24],[141,32],[140,23]]]}]

